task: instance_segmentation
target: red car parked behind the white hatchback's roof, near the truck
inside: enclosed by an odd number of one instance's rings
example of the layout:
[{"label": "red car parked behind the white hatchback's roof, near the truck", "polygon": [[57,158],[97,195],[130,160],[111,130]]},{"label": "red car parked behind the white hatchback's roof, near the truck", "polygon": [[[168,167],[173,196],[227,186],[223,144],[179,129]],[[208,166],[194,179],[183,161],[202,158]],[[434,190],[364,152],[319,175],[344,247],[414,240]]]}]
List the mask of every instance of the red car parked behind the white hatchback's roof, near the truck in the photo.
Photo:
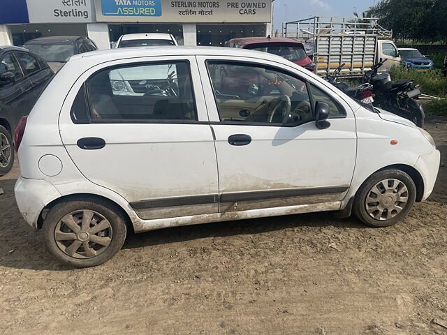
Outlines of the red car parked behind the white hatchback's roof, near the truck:
[{"label": "red car parked behind the white hatchback's roof, near the truck", "polygon": [[270,36],[233,38],[232,40],[228,40],[225,46],[277,54],[278,56],[293,61],[293,63],[316,73],[316,66],[312,60],[307,57],[304,45],[291,38],[271,38]]}]

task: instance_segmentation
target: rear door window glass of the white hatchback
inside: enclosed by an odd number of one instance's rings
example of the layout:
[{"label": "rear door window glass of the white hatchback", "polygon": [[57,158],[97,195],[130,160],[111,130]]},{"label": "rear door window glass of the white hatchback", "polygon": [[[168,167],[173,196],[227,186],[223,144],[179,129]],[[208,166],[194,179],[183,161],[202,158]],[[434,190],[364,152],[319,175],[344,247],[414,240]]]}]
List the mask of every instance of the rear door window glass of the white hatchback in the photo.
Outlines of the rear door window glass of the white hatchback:
[{"label": "rear door window glass of the white hatchback", "polygon": [[115,66],[87,80],[91,122],[197,121],[189,63]]}]

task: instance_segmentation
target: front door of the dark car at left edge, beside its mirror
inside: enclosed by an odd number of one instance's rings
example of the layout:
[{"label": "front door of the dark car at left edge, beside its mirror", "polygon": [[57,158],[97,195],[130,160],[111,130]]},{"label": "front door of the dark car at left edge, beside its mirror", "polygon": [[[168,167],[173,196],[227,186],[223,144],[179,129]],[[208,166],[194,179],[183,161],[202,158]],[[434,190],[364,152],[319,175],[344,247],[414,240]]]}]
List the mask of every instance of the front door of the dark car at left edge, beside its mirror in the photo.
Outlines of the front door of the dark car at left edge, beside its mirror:
[{"label": "front door of the dark car at left edge, beside its mirror", "polygon": [[20,118],[31,111],[36,102],[36,96],[33,93],[33,84],[29,77],[24,75],[13,52],[6,52],[0,59],[0,75],[4,73],[13,73],[11,80],[8,82],[3,80],[0,83],[1,102],[6,106],[13,131]]}]

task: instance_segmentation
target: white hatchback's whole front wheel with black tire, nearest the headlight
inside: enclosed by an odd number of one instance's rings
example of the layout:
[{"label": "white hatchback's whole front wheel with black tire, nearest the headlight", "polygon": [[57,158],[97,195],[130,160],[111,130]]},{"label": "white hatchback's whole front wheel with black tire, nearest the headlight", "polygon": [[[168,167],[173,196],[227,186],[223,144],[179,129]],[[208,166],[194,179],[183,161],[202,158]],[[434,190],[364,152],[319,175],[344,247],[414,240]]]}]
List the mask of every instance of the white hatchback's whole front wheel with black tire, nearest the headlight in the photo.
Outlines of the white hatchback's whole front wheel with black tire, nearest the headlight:
[{"label": "white hatchback's whole front wheel with black tire, nearest the headlight", "polygon": [[408,214],[416,200],[413,179],[401,170],[372,174],[360,186],[354,199],[354,214],[367,225],[388,227]]}]

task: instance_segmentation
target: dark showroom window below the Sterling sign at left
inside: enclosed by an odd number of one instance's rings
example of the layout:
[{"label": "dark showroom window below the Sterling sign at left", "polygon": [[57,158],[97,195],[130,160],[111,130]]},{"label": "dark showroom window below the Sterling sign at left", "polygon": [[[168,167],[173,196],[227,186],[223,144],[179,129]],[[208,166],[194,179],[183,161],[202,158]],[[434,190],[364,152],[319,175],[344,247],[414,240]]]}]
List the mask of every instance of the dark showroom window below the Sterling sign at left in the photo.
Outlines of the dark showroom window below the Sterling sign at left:
[{"label": "dark showroom window below the Sterling sign at left", "polygon": [[11,24],[9,26],[13,43],[24,45],[27,40],[48,36],[87,36],[86,24]]}]

